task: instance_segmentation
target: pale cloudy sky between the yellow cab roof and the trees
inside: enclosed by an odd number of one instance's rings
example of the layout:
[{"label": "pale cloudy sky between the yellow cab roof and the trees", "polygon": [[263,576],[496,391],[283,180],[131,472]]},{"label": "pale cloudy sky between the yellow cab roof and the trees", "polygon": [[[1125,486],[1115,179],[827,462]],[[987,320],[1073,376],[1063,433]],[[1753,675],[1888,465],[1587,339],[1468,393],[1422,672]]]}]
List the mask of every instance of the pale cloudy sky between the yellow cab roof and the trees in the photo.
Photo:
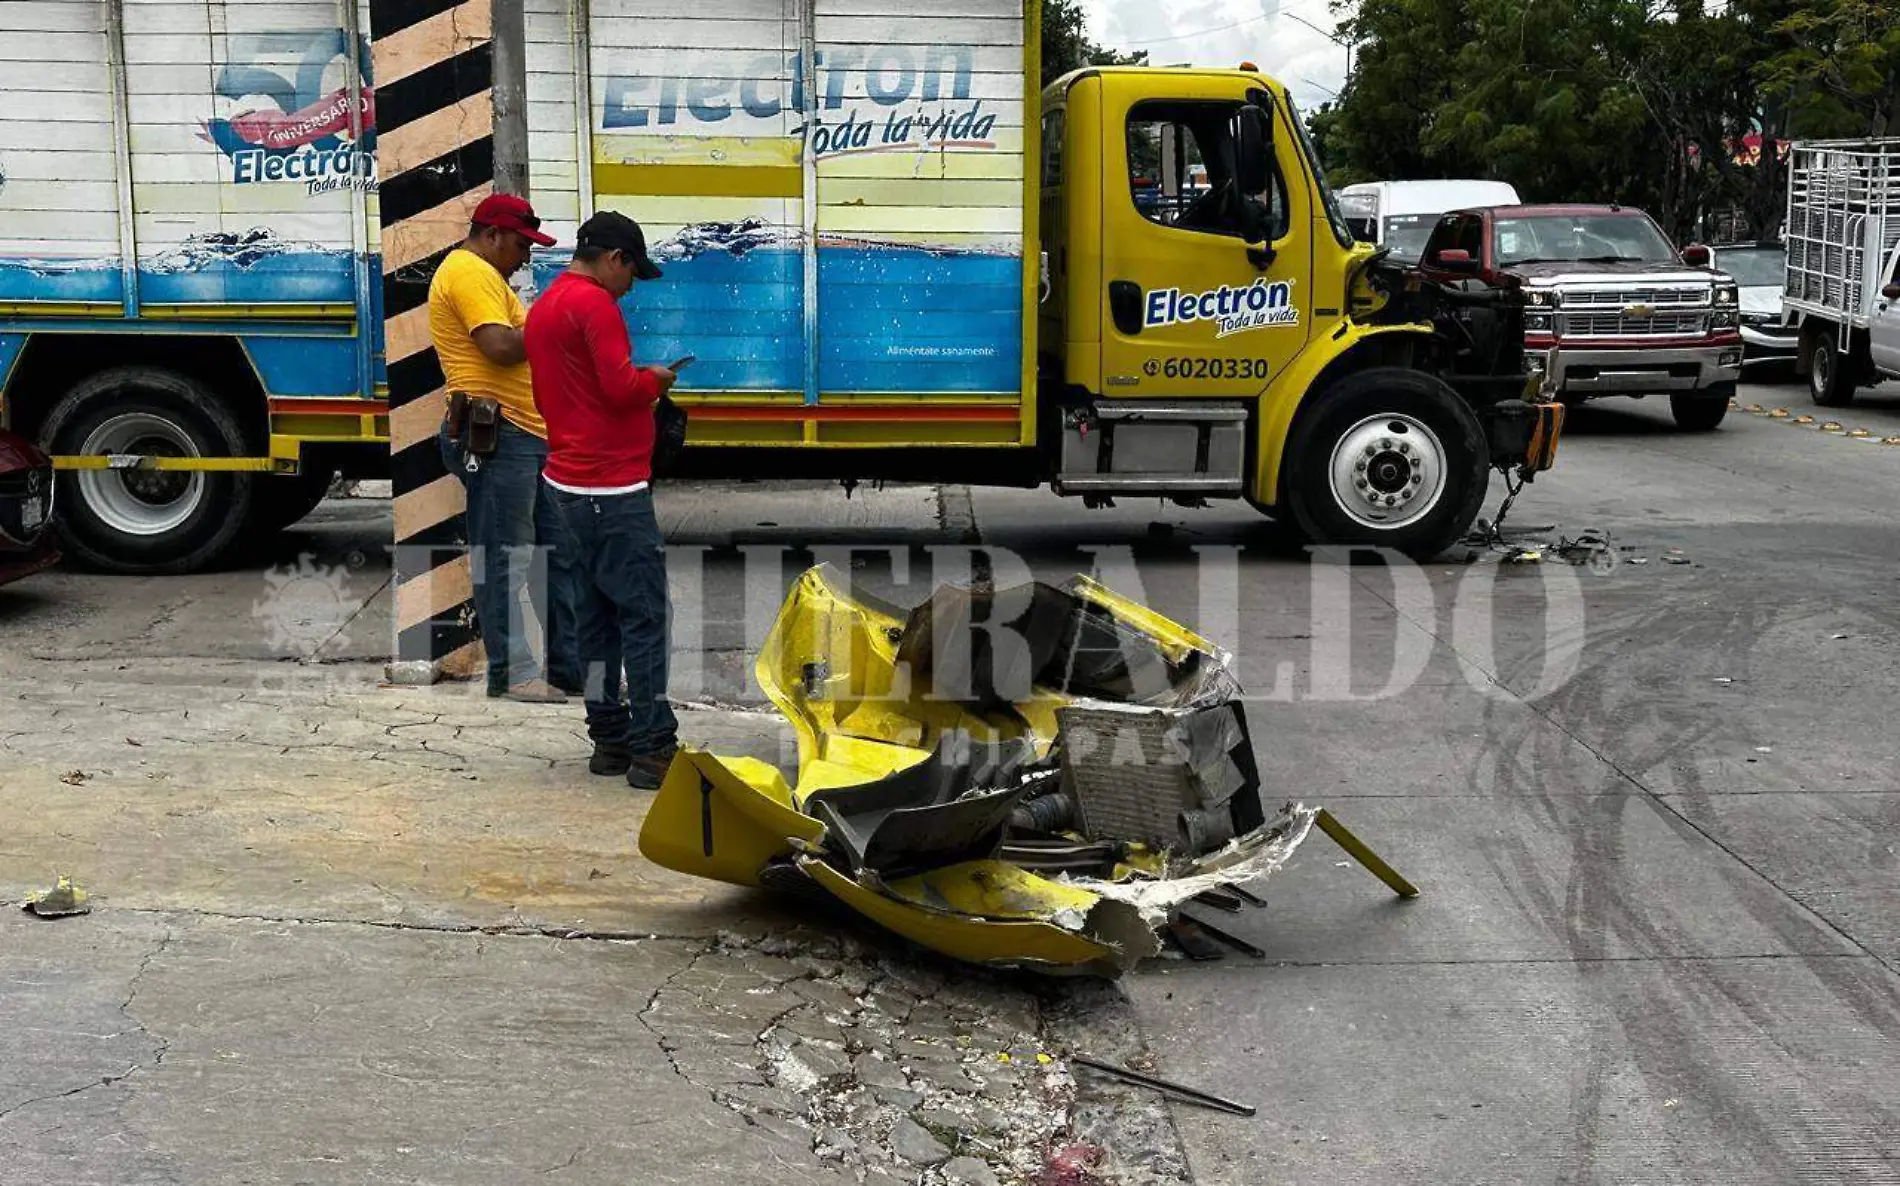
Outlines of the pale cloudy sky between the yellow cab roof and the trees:
[{"label": "pale cloudy sky between the yellow cab roof and the trees", "polygon": [[1326,0],[1083,0],[1089,36],[1115,49],[1148,49],[1170,67],[1252,61],[1315,108],[1345,80],[1345,49],[1292,17],[1332,32]]}]

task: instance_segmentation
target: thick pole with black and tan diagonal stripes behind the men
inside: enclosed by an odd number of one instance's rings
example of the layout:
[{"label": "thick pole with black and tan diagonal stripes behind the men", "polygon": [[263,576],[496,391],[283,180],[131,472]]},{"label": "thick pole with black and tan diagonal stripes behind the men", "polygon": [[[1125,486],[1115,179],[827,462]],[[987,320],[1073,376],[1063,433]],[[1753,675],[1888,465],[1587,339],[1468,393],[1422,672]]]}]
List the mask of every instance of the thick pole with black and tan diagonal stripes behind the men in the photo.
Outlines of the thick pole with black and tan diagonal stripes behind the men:
[{"label": "thick pole with black and tan diagonal stripes behind the men", "polygon": [[445,392],[429,344],[429,279],[467,236],[483,198],[526,192],[521,0],[370,0],[369,8],[395,496],[390,677],[435,682],[473,675],[481,639],[462,483],[445,471],[435,443]]}]

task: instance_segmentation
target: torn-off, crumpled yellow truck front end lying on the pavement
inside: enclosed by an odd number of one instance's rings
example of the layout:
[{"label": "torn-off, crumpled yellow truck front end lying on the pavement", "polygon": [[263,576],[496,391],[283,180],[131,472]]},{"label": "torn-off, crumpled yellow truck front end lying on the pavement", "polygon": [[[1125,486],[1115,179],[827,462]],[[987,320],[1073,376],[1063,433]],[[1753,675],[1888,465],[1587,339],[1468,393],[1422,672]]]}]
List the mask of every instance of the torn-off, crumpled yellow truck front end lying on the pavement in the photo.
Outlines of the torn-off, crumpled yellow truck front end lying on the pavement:
[{"label": "torn-off, crumpled yellow truck front end lying on the pavement", "polygon": [[1271,874],[1322,815],[1265,808],[1229,656],[1081,576],[904,614],[817,566],[756,675],[796,781],[682,749],[640,851],[836,899],[971,964],[1119,975],[1182,903]]}]

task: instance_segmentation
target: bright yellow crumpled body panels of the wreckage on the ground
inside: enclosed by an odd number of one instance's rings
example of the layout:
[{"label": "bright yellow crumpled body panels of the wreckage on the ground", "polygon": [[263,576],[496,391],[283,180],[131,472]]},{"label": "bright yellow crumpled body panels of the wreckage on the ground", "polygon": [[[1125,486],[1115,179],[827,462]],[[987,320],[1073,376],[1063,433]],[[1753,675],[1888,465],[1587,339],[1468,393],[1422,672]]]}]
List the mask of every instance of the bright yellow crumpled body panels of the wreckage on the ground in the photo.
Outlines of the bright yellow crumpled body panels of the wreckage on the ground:
[{"label": "bright yellow crumpled body panels of the wreckage on the ground", "polygon": [[[1170,656],[1218,654],[1186,627],[1083,578],[1072,591],[1142,629]],[[680,749],[640,827],[640,851],[667,869],[760,886],[792,865],[880,926],[973,964],[1117,975],[1159,950],[1151,918],[1125,901],[1041,878],[1007,861],[965,861],[906,878],[853,878],[815,855],[815,791],[880,781],[927,760],[948,730],[978,741],[1030,737],[1047,753],[1068,698],[1037,692],[1015,713],[978,715],[904,686],[904,622],[847,597],[826,566],[792,585],[756,675],[798,739],[798,785],[768,762]],[[819,658],[811,658],[819,656]]]}]

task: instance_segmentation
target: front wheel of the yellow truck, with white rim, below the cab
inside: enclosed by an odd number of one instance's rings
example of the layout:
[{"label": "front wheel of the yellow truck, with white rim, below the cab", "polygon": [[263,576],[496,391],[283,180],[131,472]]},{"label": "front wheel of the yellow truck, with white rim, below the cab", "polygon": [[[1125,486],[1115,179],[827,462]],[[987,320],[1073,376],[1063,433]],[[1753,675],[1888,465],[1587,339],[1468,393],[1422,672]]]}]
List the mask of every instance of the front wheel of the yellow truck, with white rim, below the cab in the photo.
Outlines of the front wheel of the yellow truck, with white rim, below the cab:
[{"label": "front wheel of the yellow truck, with white rim, below the cab", "polygon": [[1376,367],[1311,399],[1286,445],[1282,485],[1311,542],[1431,559],[1471,528],[1490,450],[1457,392],[1423,371]]}]

